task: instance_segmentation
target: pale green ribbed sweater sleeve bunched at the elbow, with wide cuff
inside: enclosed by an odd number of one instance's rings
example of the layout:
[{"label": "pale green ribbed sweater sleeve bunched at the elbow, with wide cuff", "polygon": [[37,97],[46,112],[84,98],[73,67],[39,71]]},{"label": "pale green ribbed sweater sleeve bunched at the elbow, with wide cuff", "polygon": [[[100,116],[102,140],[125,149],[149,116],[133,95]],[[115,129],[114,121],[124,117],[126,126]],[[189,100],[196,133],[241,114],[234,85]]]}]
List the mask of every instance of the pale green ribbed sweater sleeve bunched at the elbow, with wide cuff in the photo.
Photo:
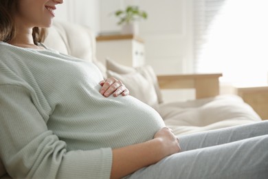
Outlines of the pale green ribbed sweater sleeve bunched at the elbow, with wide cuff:
[{"label": "pale green ribbed sweater sleeve bunched at the elbow, with wide cuff", "polygon": [[0,85],[0,120],[0,156],[12,178],[110,177],[111,148],[67,151],[26,87]]}]

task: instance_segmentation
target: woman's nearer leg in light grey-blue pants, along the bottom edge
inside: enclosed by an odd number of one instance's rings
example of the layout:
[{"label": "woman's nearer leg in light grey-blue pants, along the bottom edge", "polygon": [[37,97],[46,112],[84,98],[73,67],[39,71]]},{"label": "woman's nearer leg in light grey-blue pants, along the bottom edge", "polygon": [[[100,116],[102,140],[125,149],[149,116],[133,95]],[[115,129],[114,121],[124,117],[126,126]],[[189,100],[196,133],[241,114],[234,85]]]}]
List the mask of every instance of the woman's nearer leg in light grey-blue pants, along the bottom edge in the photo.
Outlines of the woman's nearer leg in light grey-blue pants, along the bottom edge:
[{"label": "woman's nearer leg in light grey-blue pants, along the bottom edge", "polygon": [[268,135],[173,154],[130,178],[268,178]]}]

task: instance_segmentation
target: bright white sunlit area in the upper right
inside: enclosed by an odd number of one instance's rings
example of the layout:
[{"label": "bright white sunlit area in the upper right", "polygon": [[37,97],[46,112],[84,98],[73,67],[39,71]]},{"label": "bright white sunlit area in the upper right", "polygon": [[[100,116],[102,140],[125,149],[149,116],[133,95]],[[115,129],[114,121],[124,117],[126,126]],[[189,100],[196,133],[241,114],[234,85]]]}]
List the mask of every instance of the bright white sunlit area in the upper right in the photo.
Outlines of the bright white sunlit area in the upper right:
[{"label": "bright white sunlit area in the upper right", "polygon": [[223,72],[222,81],[267,84],[268,1],[229,0],[210,26],[199,72]]}]

